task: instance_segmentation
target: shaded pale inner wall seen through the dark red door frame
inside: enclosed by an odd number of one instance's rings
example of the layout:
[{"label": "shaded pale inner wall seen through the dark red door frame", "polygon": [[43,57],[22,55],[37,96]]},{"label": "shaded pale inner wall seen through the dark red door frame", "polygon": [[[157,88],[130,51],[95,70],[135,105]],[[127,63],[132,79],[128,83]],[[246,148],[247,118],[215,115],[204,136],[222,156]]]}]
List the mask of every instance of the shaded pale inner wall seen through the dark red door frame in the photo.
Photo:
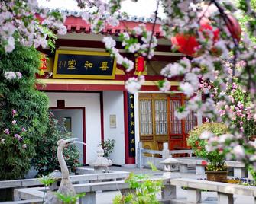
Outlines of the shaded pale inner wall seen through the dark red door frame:
[{"label": "shaded pale inner wall seen through the dark red door frame", "polygon": [[[83,141],[83,111],[81,109],[70,110],[52,110],[57,120],[63,120],[64,117],[71,117],[71,132],[73,137]],[[75,144],[79,148],[79,161],[83,164],[83,145]]]}]

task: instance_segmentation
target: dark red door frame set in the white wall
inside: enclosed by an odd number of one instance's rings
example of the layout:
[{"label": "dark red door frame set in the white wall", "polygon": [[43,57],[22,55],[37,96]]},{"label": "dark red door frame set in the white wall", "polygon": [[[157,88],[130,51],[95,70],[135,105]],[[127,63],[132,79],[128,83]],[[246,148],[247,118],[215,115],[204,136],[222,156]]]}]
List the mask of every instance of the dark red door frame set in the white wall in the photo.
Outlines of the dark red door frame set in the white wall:
[{"label": "dark red door frame set in the white wall", "polygon": [[[49,110],[71,110],[71,109],[82,110],[82,117],[83,117],[83,142],[86,142],[86,107],[65,107],[65,104],[64,104],[64,106],[57,106],[57,107],[50,107],[49,108]],[[83,145],[83,164],[86,164],[86,145]]]}]

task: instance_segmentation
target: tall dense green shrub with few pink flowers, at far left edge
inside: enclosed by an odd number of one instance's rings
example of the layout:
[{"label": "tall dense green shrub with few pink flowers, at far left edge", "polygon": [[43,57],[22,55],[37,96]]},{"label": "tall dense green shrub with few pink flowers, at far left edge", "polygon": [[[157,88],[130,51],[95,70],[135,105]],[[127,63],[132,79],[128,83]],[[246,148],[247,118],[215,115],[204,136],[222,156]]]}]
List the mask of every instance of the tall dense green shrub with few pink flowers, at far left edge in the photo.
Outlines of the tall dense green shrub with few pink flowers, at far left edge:
[{"label": "tall dense green shrub with few pink flowers, at far left edge", "polygon": [[[34,48],[16,43],[13,52],[0,50],[0,56],[0,180],[11,180],[23,178],[31,167],[34,144],[47,129],[48,98],[35,88],[40,59]],[[10,73],[15,78],[8,77]],[[12,110],[17,113],[13,115]],[[22,128],[26,131],[21,132]],[[22,142],[15,134],[22,136]]]}]

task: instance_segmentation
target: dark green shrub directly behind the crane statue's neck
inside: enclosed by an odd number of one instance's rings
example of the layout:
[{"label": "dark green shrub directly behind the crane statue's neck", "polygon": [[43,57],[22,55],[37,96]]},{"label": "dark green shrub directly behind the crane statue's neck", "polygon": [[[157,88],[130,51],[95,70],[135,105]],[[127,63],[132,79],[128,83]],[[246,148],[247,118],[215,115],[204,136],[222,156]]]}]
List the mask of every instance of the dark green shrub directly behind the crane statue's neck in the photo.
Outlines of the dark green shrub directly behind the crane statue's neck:
[{"label": "dark green shrub directly behind the crane statue's neck", "polygon": [[[38,171],[38,175],[47,175],[54,170],[60,170],[60,164],[57,158],[57,141],[59,139],[70,138],[71,132],[66,130],[64,121],[54,119],[53,113],[49,113],[47,132],[42,135],[41,140],[37,142],[36,153],[32,164]],[[72,171],[80,166],[79,150],[76,145],[69,145],[63,151],[66,165],[71,167]]]}]

